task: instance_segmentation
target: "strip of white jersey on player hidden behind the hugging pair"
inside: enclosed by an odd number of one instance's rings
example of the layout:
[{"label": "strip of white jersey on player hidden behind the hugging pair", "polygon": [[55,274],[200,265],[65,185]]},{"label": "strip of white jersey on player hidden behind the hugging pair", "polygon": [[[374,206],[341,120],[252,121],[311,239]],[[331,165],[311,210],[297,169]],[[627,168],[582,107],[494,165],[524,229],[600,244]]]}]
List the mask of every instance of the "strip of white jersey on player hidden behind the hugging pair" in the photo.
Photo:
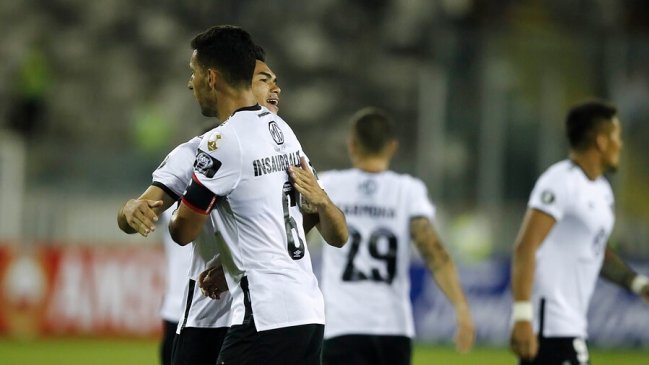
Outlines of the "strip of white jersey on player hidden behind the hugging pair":
[{"label": "strip of white jersey on player hidden behind the hugging pair", "polygon": [[169,322],[178,322],[185,302],[183,301],[183,293],[187,285],[187,271],[192,259],[191,247],[183,247],[169,235],[169,220],[173,208],[167,209],[160,215],[158,226],[162,229],[165,263],[166,263],[166,279],[164,298],[162,300],[162,307],[160,308],[160,316]]}]

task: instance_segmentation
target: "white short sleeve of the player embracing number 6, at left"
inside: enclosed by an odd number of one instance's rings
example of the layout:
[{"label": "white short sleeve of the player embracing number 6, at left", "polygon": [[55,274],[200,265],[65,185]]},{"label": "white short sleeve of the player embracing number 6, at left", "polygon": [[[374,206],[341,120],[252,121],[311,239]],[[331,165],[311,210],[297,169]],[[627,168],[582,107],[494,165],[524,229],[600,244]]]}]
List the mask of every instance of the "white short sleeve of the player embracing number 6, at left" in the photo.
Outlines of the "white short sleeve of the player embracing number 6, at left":
[{"label": "white short sleeve of the player embracing number 6, at left", "polygon": [[198,137],[174,148],[153,171],[153,185],[159,186],[175,198],[182,195],[192,178]]}]

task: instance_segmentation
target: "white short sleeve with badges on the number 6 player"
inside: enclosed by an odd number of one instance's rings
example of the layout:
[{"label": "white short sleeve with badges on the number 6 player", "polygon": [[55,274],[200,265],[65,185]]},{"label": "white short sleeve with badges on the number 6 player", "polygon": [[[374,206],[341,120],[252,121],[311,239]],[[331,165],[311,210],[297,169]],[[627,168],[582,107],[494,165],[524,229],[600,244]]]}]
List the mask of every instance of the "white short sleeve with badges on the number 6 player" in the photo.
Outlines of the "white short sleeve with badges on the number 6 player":
[{"label": "white short sleeve with badges on the number 6 player", "polygon": [[194,175],[213,194],[226,196],[239,184],[241,146],[236,132],[226,125],[203,136],[194,162]]}]

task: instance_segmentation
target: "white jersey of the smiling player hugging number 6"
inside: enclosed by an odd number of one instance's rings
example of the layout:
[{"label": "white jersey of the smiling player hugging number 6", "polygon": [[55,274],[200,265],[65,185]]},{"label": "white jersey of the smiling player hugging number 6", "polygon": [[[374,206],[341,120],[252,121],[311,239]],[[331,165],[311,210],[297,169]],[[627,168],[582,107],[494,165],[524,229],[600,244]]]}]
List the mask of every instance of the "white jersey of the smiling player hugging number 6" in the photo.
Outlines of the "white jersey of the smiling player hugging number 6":
[{"label": "white jersey of the smiling player hugging number 6", "polygon": [[[182,196],[192,178],[192,164],[196,158],[200,141],[201,137],[194,137],[171,151],[153,172],[152,185],[163,189],[174,198]],[[169,210],[173,210],[173,208]],[[189,279],[198,280],[200,273],[208,267],[214,266],[218,257],[214,228],[211,223],[207,223],[199,238],[192,242],[191,263],[186,267],[182,276],[185,285],[182,310],[176,316],[176,321],[180,320],[178,331],[182,327],[218,328],[229,326],[231,296],[228,292],[222,294],[221,299],[213,300],[203,295],[198,285],[195,285],[192,293],[189,293]],[[191,303],[185,322],[188,298],[191,298]]]}]

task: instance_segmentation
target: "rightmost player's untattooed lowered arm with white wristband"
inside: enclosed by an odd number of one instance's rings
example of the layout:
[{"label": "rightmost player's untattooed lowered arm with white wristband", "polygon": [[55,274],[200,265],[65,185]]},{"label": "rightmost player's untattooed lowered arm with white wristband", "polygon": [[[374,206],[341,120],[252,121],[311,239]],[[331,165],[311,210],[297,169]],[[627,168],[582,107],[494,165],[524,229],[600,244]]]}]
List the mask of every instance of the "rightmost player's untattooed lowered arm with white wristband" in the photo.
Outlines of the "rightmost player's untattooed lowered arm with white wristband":
[{"label": "rightmost player's untattooed lowered arm with white wristband", "polygon": [[512,296],[514,299],[510,345],[522,359],[532,359],[538,352],[538,341],[532,328],[532,287],[536,270],[536,250],[547,237],[556,220],[538,209],[528,209],[516,238],[512,258]]}]

